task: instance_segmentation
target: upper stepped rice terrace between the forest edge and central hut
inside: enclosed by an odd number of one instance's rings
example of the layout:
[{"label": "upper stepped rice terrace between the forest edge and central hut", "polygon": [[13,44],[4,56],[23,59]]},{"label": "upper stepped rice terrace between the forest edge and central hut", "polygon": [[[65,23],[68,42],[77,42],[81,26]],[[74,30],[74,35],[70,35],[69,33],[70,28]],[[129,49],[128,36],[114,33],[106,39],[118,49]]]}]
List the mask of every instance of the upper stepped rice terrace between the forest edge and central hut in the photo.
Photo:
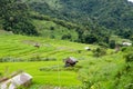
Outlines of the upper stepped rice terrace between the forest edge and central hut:
[{"label": "upper stepped rice terrace between the forest edge and central hut", "polygon": [[[35,43],[40,44],[39,49],[34,47]],[[88,52],[84,50],[84,47],[86,46],[92,49],[95,48],[95,46],[40,37],[0,34],[0,58],[4,58],[7,56],[22,59],[30,59],[35,56],[41,58],[52,57],[60,60],[69,56],[85,58],[86,55],[91,55],[90,51]],[[82,52],[79,53],[79,50]]]}]

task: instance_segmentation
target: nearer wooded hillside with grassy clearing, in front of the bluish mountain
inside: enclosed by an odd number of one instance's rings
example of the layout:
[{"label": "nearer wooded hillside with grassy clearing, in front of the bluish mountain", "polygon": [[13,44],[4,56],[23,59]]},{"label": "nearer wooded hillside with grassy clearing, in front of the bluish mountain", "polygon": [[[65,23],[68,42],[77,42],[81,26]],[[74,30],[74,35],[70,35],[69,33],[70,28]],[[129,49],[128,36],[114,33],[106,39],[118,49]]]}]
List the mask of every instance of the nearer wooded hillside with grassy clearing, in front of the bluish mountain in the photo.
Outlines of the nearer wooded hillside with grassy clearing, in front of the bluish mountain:
[{"label": "nearer wooded hillside with grassy clearing, in front of the bluish mountain", "polygon": [[0,27],[7,31],[12,31],[16,34],[42,36],[109,46],[110,33],[104,27],[91,26],[93,28],[90,28],[89,26],[84,27],[55,17],[44,16],[31,10],[28,2],[1,0],[0,3]]}]

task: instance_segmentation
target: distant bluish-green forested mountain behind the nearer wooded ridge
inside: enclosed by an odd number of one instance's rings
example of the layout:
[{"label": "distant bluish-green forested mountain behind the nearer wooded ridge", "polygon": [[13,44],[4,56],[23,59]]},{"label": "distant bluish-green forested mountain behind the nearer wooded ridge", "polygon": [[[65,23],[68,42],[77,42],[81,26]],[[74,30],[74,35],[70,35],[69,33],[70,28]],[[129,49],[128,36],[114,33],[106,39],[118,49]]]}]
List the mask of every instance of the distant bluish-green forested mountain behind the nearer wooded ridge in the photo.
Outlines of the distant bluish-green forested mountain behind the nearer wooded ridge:
[{"label": "distant bluish-green forested mountain behind the nearer wooded ridge", "polygon": [[127,0],[25,0],[30,7],[51,17],[108,29],[133,28],[133,3]]}]

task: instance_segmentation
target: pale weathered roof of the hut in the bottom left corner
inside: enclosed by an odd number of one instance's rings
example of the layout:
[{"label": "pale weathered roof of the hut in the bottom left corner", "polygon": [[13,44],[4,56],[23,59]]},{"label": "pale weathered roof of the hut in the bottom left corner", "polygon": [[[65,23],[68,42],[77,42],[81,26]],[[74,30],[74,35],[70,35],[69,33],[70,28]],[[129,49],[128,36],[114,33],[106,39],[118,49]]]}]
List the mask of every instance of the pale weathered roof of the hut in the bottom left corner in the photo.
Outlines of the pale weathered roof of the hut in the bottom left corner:
[{"label": "pale weathered roof of the hut in the bottom left corner", "polygon": [[0,82],[0,89],[17,89],[20,86],[29,87],[32,81],[32,76],[27,72],[21,72],[12,78]]}]

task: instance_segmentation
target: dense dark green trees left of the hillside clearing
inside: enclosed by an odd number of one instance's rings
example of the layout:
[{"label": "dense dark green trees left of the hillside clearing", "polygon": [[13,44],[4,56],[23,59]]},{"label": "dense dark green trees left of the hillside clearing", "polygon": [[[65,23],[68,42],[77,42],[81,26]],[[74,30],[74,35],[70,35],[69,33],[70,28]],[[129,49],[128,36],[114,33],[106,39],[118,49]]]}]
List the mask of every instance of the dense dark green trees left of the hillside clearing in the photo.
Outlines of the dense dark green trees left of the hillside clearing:
[{"label": "dense dark green trees left of the hillside clearing", "polygon": [[29,8],[18,0],[1,0],[0,16],[3,19],[3,29],[21,34],[38,34],[29,18]]}]

